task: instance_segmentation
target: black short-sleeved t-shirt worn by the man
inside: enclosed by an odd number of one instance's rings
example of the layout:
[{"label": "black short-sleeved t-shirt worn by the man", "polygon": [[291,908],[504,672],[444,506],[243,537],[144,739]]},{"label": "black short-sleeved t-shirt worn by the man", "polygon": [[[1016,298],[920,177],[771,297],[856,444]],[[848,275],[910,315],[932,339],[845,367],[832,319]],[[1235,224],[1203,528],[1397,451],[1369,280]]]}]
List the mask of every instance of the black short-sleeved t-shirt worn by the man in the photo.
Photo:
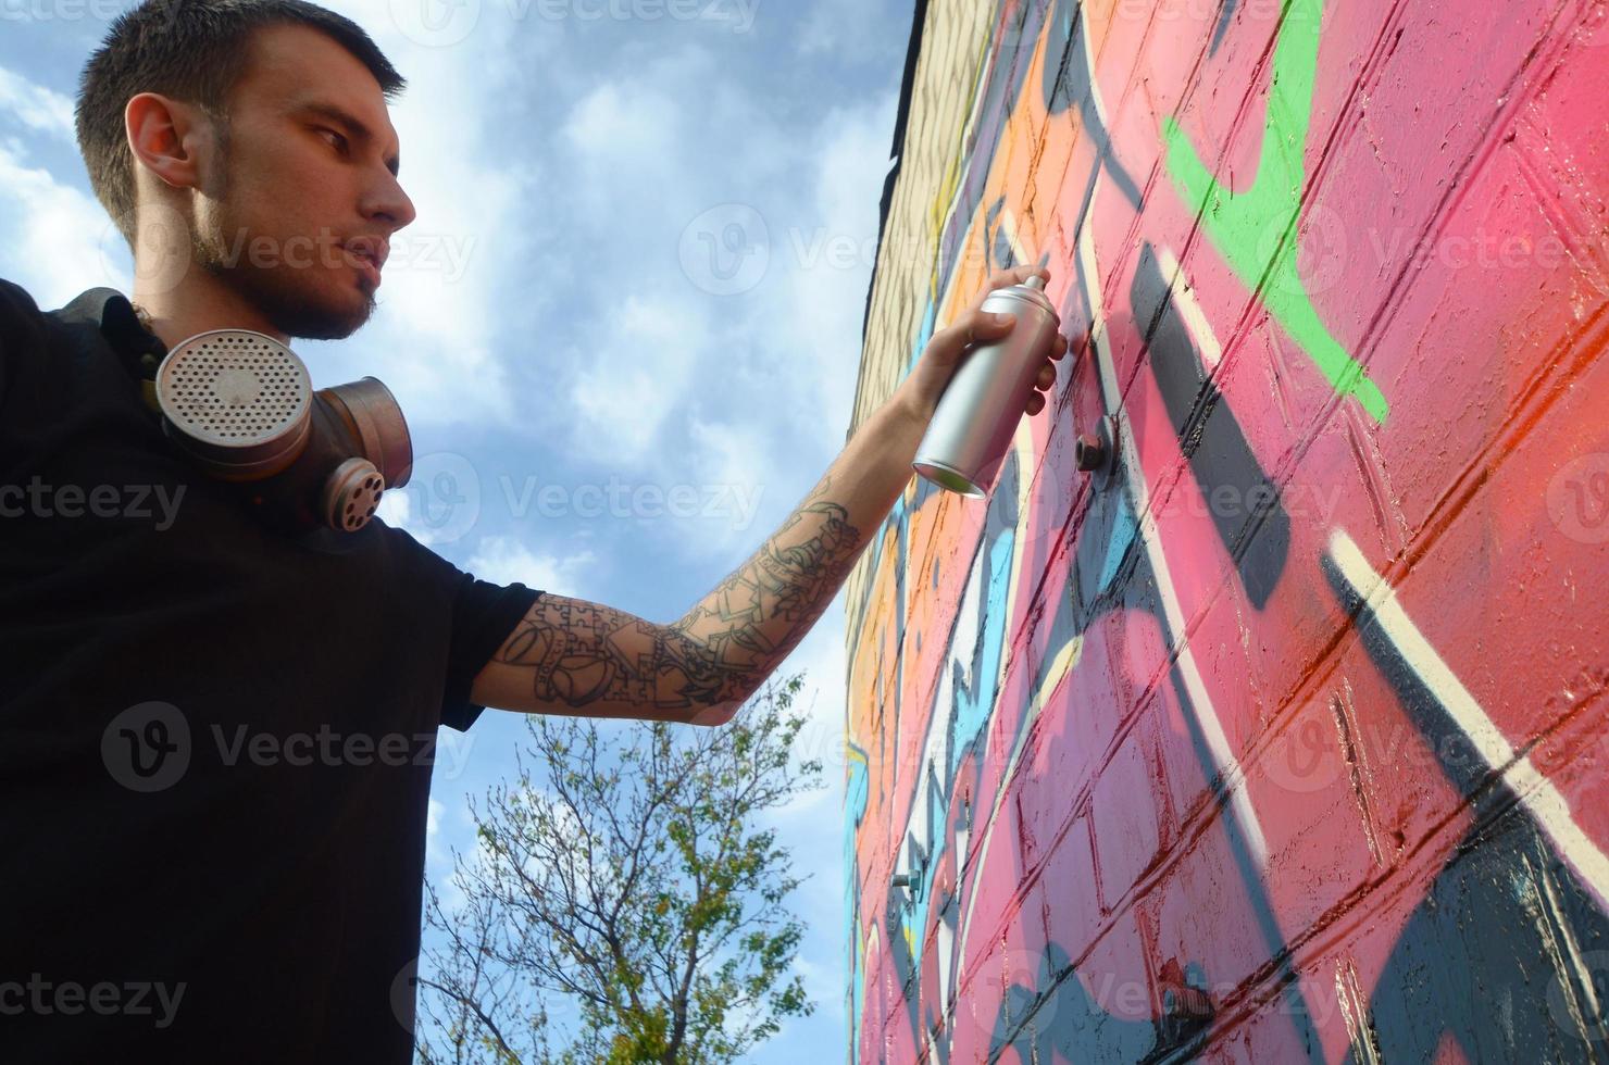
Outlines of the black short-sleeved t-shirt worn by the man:
[{"label": "black short-sleeved t-shirt worn by the man", "polygon": [[407,1062],[436,729],[541,592],[272,532],[153,343],[0,282],[0,1059]]}]

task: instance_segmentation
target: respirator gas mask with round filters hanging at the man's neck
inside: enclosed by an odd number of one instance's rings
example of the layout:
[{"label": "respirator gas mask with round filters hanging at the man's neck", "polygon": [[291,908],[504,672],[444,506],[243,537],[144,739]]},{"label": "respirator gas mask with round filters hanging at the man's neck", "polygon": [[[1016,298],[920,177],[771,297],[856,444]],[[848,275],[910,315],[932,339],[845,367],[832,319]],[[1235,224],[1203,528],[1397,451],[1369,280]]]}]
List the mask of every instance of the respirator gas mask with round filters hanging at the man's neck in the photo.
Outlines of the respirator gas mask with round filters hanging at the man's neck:
[{"label": "respirator gas mask with round filters hanging at the man's neck", "polygon": [[362,529],[414,467],[391,389],[365,376],[314,391],[296,352],[262,333],[180,341],[156,368],[154,394],[163,433],[291,534]]}]

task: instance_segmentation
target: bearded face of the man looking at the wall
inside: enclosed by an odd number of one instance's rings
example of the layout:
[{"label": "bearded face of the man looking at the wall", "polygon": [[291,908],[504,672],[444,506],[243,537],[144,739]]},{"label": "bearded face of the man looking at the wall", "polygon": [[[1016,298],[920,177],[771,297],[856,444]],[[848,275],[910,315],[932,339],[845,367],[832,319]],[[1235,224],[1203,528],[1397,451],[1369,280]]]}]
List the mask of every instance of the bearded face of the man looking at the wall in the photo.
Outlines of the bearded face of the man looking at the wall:
[{"label": "bearded face of the man looking at the wall", "polygon": [[288,336],[349,336],[375,309],[389,236],[414,220],[378,82],[330,37],[270,26],[253,34],[228,111],[225,180],[198,203],[198,265]]}]

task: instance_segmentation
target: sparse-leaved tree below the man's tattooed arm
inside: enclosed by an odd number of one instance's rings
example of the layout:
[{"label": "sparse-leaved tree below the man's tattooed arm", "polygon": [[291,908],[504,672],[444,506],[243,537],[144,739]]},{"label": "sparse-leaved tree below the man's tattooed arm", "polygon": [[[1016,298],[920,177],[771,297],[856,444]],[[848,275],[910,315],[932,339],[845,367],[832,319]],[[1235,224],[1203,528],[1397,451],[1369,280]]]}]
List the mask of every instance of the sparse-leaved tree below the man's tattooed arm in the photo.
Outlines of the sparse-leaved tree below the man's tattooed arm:
[{"label": "sparse-leaved tree below the man's tattooed arm", "polygon": [[[716,727],[528,721],[539,782],[492,787],[451,911],[426,883],[423,1062],[735,1062],[808,1015],[790,977],[803,878],[761,816],[821,787],[798,761],[803,676]],[[434,972],[430,972],[434,968]],[[568,1023],[566,1023],[568,1022]],[[425,1026],[422,1026],[425,1031]]]}]

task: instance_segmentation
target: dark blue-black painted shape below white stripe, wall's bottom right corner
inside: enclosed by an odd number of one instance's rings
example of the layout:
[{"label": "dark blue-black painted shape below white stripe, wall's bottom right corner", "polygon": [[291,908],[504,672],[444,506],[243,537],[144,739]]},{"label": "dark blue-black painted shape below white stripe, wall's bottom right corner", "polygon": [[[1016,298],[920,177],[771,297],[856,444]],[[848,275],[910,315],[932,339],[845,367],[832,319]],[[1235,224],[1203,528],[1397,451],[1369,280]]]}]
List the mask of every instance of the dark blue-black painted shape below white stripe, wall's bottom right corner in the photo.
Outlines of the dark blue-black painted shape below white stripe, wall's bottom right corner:
[{"label": "dark blue-black painted shape below white stripe, wall's bottom right corner", "polygon": [[[1387,1062],[1427,1062],[1451,1036],[1471,1062],[1609,1062],[1609,1018],[1588,1010],[1585,1031],[1572,1030],[1566,1005],[1590,1001],[1566,959],[1609,951],[1609,919],[1500,775],[1503,766],[1480,756],[1358,589],[1331,558],[1321,568],[1474,822],[1369,994],[1376,1049]],[[1591,968],[1604,1009],[1609,964]],[[1347,1057],[1366,1060],[1356,1047]]]}]

